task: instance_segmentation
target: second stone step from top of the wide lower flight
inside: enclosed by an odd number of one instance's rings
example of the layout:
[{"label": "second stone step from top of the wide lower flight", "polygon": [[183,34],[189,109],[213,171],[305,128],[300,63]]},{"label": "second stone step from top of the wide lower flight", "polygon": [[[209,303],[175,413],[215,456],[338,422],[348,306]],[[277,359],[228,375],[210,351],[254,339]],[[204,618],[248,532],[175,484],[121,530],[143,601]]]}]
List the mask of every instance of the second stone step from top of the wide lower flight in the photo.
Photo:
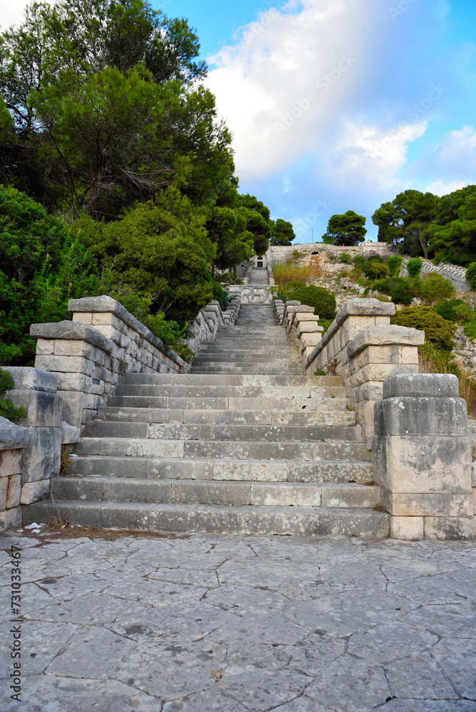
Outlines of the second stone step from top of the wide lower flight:
[{"label": "second stone step from top of the wide lower flight", "polygon": [[346,389],[341,386],[321,385],[154,385],[154,384],[120,384],[116,386],[115,396],[155,396],[171,398],[276,398],[288,400],[290,398],[346,398]]}]

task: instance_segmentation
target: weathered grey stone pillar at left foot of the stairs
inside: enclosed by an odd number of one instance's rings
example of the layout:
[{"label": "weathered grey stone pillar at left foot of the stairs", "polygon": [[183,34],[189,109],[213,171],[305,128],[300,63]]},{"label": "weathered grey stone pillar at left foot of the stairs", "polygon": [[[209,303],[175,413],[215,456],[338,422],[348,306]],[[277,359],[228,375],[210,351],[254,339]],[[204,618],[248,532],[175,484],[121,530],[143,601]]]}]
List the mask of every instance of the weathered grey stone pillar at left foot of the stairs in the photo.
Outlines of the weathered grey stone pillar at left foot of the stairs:
[{"label": "weathered grey stone pillar at left foot of the stairs", "polygon": [[24,406],[26,416],[18,424],[29,432],[21,473],[21,504],[48,496],[51,478],[61,468],[61,417],[63,399],[56,393],[57,377],[38,368],[13,367],[9,372],[15,388],[6,397],[15,407]]}]

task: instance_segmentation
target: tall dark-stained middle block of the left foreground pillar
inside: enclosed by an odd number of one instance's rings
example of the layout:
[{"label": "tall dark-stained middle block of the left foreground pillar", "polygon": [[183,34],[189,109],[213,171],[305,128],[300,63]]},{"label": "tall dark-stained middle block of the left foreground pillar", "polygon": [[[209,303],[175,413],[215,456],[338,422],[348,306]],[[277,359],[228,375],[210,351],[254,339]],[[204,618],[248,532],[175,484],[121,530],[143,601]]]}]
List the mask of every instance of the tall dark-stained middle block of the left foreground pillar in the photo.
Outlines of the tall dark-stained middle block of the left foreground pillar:
[{"label": "tall dark-stained middle block of the left foreground pillar", "polygon": [[56,477],[61,465],[61,428],[29,428],[22,483]]}]

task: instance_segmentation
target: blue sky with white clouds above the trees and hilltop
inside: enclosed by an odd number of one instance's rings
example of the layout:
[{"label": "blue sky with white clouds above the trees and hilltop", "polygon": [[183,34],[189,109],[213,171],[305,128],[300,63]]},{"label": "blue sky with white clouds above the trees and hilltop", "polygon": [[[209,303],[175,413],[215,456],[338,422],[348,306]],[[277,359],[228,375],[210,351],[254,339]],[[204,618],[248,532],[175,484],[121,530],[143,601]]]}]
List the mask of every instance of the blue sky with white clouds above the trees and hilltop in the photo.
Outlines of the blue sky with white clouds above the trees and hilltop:
[{"label": "blue sky with white clouds above the trees and hilltop", "polygon": [[[22,0],[3,4],[16,21]],[[476,183],[474,0],[152,0],[197,28],[242,192],[321,239],[405,189]]]}]

